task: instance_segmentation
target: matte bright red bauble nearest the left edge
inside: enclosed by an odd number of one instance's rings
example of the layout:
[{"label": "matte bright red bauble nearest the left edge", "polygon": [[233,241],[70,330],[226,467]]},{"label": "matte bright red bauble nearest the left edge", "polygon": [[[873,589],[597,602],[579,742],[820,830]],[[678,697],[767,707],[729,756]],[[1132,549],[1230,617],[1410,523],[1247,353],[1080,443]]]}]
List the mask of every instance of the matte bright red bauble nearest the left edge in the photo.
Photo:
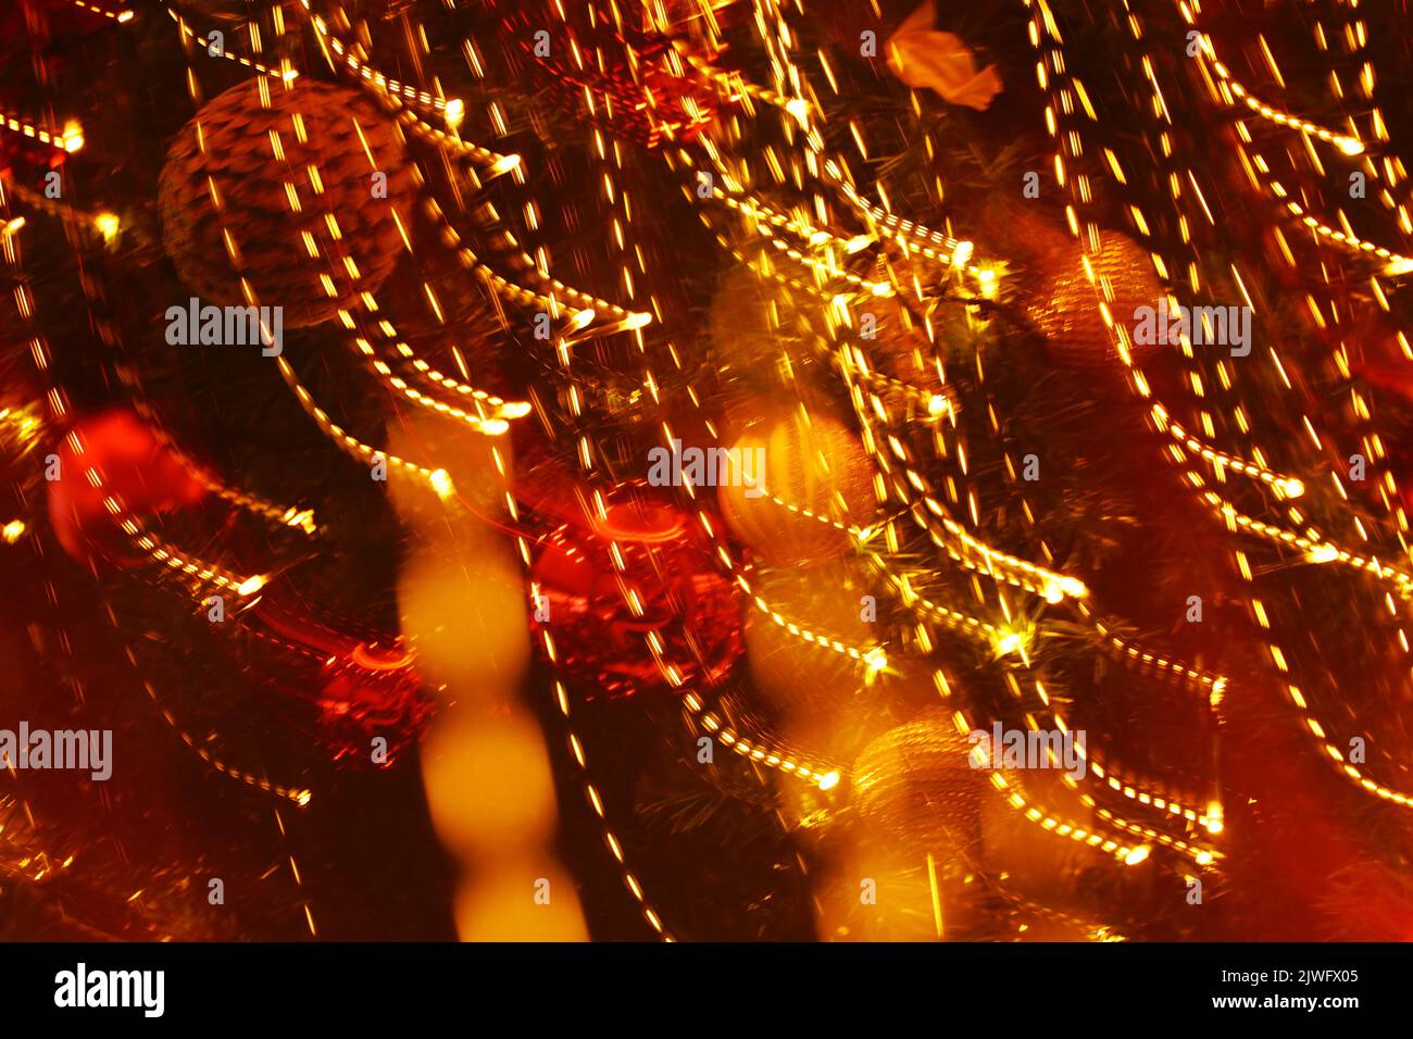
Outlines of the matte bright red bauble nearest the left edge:
[{"label": "matte bright red bauble nearest the left edge", "polygon": [[[57,475],[49,481],[49,522],[64,551],[79,563],[136,561],[117,519],[175,512],[206,493],[151,427],[124,409],[79,418],[55,454],[58,468],[51,462],[45,474]],[[109,498],[126,512],[114,516],[105,503]]]}]

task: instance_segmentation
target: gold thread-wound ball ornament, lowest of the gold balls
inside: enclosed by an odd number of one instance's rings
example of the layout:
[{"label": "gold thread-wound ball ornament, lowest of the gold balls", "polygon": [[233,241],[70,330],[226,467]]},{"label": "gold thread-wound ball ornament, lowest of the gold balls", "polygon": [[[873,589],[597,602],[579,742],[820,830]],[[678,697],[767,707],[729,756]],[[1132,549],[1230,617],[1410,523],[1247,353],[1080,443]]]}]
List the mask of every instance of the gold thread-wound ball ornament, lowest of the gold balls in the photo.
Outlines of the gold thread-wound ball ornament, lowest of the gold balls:
[{"label": "gold thread-wound ball ornament, lowest of the gold balls", "polygon": [[853,765],[859,817],[910,854],[981,851],[986,772],[951,717],[928,710],[885,732]]}]

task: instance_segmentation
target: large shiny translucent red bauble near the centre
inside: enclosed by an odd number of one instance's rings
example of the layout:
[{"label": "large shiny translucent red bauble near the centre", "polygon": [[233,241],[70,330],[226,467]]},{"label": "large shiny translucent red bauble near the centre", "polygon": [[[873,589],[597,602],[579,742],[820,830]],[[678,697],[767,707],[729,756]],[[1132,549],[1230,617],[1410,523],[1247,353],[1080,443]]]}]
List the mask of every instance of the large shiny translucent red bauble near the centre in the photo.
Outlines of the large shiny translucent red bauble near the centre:
[{"label": "large shiny translucent red bauble near the centre", "polygon": [[[544,539],[531,567],[541,597],[533,630],[550,636],[561,666],[602,683],[609,695],[671,684],[664,669],[684,683],[721,681],[743,649],[742,618],[709,543],[698,526],[675,520],[664,527],[681,529],[671,540],[653,530],[626,540],[626,529],[608,537],[565,524]],[[615,547],[622,571],[612,563]]]}]

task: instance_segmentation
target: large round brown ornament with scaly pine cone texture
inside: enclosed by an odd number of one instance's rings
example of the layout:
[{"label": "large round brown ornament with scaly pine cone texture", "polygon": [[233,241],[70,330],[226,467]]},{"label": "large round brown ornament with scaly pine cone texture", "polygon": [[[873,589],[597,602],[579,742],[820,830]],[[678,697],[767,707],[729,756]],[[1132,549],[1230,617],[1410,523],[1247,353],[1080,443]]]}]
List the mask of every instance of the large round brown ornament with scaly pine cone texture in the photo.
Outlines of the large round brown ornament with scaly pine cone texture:
[{"label": "large round brown ornament with scaly pine cone texture", "polygon": [[[196,148],[198,122],[205,155]],[[278,133],[280,158],[273,154],[271,133]],[[322,194],[314,188],[311,165],[318,168]],[[376,172],[386,174],[386,192]],[[208,175],[223,202],[219,213]],[[287,182],[298,195],[300,212],[291,209]],[[291,89],[271,85],[264,109],[259,81],[250,79],[215,98],[182,127],[167,153],[157,201],[167,253],[202,303],[246,303],[226,252],[225,228],[239,250],[239,273],[261,305],[283,307],[284,324],[300,327],[332,318],[359,291],[383,283],[403,253],[394,213],[407,223],[415,188],[417,172],[396,123],[357,90],[300,79]],[[329,213],[339,226],[336,242],[325,219]],[[309,257],[304,232],[314,236],[318,259]],[[345,256],[353,260],[356,278]],[[333,295],[322,276],[332,278]]]}]

